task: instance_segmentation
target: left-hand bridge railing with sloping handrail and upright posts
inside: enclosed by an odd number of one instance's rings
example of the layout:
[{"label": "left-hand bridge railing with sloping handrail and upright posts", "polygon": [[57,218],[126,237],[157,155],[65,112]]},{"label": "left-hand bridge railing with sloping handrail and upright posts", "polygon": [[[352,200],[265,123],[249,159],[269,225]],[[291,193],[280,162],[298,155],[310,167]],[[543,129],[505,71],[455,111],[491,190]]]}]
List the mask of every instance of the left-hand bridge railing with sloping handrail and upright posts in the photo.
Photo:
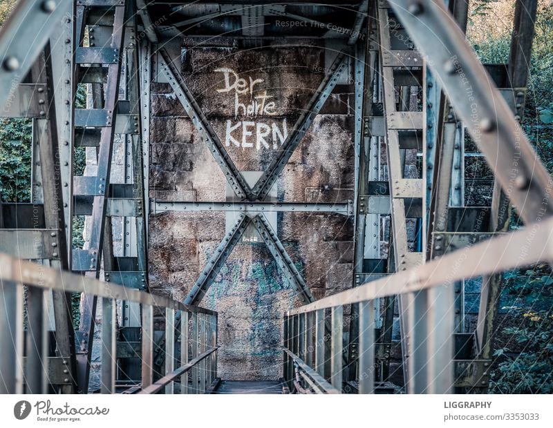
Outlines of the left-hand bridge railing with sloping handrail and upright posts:
[{"label": "left-hand bridge railing with sloping handrail and upright posts", "polygon": [[[217,376],[216,312],[0,253],[0,393],[46,393],[51,385],[76,382],[71,369],[75,356],[51,356],[48,323],[53,290],[86,293],[101,302],[102,393],[116,392],[119,302],[140,304],[142,340],[126,353],[140,358],[142,380],[124,391],[118,387],[118,392],[205,393],[212,386]],[[157,325],[165,322],[163,345],[154,340],[154,316]],[[73,328],[55,327],[56,335],[69,334]],[[165,356],[165,376],[155,369],[156,353]]]}]

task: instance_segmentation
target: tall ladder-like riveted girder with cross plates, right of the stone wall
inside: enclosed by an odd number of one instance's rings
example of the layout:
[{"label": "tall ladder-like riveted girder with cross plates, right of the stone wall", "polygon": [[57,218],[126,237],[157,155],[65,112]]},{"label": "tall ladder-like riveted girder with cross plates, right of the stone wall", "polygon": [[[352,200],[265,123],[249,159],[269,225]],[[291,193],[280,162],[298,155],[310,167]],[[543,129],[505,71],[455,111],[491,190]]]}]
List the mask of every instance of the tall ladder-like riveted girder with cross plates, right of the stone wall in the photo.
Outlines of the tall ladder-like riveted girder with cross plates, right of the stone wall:
[{"label": "tall ladder-like riveted girder with cross plates, right of the stone wall", "polygon": [[[400,88],[400,106],[396,108],[395,81],[393,67],[422,67],[424,76],[424,61],[418,52],[413,50],[397,50],[392,48],[391,37],[395,35],[395,28],[391,29],[391,20],[388,19],[388,5],[377,5],[377,22],[380,41],[380,70],[382,77],[382,101],[386,123],[386,148],[388,157],[388,179],[391,195],[391,229],[393,235],[393,256],[395,271],[405,271],[424,261],[420,251],[410,252],[406,233],[406,204],[411,198],[420,200],[420,206],[425,206],[426,192],[422,188],[422,179],[404,178],[404,164],[400,148],[400,130],[422,129],[423,117],[426,110],[425,93],[423,92],[422,113],[409,110],[408,90]],[[424,78],[423,78],[424,81]],[[406,96],[407,99],[404,99]],[[423,171],[426,166],[424,153],[426,150],[424,130],[422,131]],[[426,210],[422,210],[422,224],[426,223]],[[424,248],[424,238],[422,242]],[[427,307],[426,291],[416,294],[400,295],[398,306],[400,312],[400,331],[402,343],[404,382],[407,391],[416,389],[417,384],[424,384],[424,358],[421,352],[415,353],[413,346],[418,335],[424,336],[421,327],[424,326],[424,314]]]}]

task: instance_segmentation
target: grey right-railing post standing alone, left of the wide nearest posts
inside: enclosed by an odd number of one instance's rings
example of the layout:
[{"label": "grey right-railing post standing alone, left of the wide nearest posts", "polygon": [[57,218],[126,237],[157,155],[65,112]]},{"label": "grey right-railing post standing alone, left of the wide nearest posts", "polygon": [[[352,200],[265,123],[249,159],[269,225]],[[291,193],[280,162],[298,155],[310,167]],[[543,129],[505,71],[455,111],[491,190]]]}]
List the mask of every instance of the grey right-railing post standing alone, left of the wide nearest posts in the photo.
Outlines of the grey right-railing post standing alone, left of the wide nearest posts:
[{"label": "grey right-railing post standing alone, left of the wide nearest posts", "polygon": [[359,302],[359,393],[375,391],[375,301]]}]

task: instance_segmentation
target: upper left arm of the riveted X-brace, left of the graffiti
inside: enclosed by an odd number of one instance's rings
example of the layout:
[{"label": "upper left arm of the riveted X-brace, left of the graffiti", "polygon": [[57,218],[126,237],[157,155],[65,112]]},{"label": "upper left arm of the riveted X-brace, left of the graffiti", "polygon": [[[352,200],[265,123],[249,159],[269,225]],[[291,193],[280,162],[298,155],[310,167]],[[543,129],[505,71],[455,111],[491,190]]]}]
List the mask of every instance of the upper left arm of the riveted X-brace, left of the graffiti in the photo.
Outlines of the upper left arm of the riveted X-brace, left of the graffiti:
[{"label": "upper left arm of the riveted X-brace, left of the graffiti", "polygon": [[207,121],[207,117],[205,117],[200,106],[198,106],[198,103],[194,99],[194,95],[192,95],[184,79],[182,79],[180,72],[178,72],[174,66],[169,53],[165,49],[160,49],[158,52],[160,54],[160,66],[167,75],[171,88],[175,91],[176,97],[180,101],[180,104],[182,104],[182,107],[185,108],[186,113],[200,133],[201,138],[204,139],[209,146],[209,151],[221,167],[221,170],[223,170],[227,182],[229,182],[234,193],[242,199],[252,199],[250,186],[247,185],[247,182],[225,150],[221,140],[209,124],[209,121]]}]

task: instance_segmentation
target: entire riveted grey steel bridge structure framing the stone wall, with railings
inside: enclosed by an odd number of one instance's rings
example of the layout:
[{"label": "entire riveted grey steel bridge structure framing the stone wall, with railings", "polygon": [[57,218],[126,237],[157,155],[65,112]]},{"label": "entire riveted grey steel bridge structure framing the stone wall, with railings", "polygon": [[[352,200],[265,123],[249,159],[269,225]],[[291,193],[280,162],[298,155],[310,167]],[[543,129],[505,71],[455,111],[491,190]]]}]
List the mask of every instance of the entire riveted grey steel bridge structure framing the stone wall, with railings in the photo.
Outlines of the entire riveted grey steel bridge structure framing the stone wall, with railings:
[{"label": "entire riveted grey steel bridge structure framing the stone wall, with railings", "polygon": [[[303,302],[282,314],[282,379],[265,385],[270,391],[399,391],[389,382],[396,308],[402,391],[485,392],[501,273],[553,260],[552,180],[518,123],[536,0],[516,0],[508,64],[480,64],[465,39],[467,9],[464,0],[20,0],[0,30],[0,104],[2,116],[32,119],[32,202],[0,202],[0,392],[87,393],[91,376],[100,376],[102,393],[261,391],[245,382],[221,387],[218,332],[225,327],[200,307],[251,226]],[[300,25],[279,26],[277,18]],[[252,45],[301,37],[333,46],[315,95],[253,184],[194,99],[180,73],[180,46],[172,43],[222,34]],[[353,201],[270,200],[348,73]],[[170,85],[236,202],[149,198],[157,81]],[[76,102],[83,87],[85,106]],[[465,133],[478,153],[465,153]],[[124,147],[124,183],[111,180],[115,139]],[[87,175],[75,171],[82,148],[95,156]],[[494,173],[489,206],[465,206],[471,156],[485,157]],[[511,206],[525,227],[509,233]],[[149,215],[162,211],[236,213],[185,302],[149,292]],[[352,220],[350,289],[314,298],[268,220],[268,213],[291,211]],[[75,249],[72,231],[82,215],[88,241]],[[391,246],[383,258],[377,236],[386,216]],[[114,222],[122,224],[122,252],[114,249]],[[415,224],[414,242],[408,224]],[[466,331],[462,280],[476,277],[478,324]],[[82,295],[78,328],[73,293]],[[99,369],[91,364],[95,346]]]}]

